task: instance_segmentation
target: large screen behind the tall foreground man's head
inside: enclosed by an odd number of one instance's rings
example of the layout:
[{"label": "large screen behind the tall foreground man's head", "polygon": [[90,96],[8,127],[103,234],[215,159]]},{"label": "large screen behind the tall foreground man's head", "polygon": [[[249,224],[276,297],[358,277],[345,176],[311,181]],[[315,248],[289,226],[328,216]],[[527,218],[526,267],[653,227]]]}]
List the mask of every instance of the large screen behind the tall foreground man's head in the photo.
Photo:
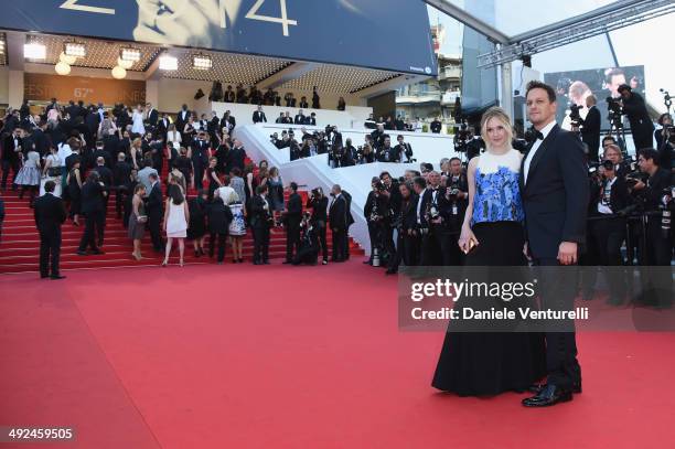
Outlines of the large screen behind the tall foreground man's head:
[{"label": "large screen behind the tall foreground man's head", "polygon": [[556,89],[558,99],[557,121],[564,128],[569,126],[569,106],[576,104],[582,106],[579,111],[586,117],[586,98],[594,95],[598,98],[598,108],[603,113],[602,128],[609,128],[607,120],[607,98],[620,97],[617,89],[622,84],[628,84],[633,92],[644,97],[644,66],[634,65],[629,67],[604,67],[590,71],[557,72],[544,74],[544,81]]}]

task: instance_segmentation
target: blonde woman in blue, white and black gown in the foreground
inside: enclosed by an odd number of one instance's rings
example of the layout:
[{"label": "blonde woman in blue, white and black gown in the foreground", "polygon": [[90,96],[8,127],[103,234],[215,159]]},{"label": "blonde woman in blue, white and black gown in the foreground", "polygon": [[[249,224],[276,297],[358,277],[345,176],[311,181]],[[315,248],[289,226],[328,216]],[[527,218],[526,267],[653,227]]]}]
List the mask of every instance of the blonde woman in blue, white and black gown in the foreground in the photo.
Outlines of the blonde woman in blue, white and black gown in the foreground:
[{"label": "blonde woman in blue, white and black gown in the foreground", "polygon": [[[513,131],[506,113],[501,108],[489,109],[481,122],[481,133],[488,149],[469,162],[469,206],[458,244],[467,254],[468,266],[523,266],[525,214],[518,185],[522,156],[512,147]],[[493,280],[500,274],[513,277],[499,268],[488,271]],[[489,309],[501,302],[478,300],[480,306],[472,302],[469,307]],[[461,302],[456,307],[463,307]],[[542,334],[453,330],[453,325],[462,324],[451,322],[448,328],[433,387],[459,395],[496,395],[524,392],[544,376]]]}]

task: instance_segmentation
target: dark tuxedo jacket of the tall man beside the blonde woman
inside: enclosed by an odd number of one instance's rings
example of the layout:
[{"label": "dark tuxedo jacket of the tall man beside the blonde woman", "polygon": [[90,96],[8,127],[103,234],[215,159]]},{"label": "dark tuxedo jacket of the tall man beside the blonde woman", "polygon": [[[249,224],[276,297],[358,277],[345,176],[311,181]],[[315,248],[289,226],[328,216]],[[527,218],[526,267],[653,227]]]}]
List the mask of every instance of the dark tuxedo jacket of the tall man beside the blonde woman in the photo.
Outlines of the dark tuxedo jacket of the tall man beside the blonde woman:
[{"label": "dark tuxedo jacket of the tall man beside the blonde woman", "polygon": [[586,243],[589,184],[583,146],[556,125],[532,159],[527,182],[526,159],[519,186],[529,252],[534,258],[555,259],[560,243]]}]

